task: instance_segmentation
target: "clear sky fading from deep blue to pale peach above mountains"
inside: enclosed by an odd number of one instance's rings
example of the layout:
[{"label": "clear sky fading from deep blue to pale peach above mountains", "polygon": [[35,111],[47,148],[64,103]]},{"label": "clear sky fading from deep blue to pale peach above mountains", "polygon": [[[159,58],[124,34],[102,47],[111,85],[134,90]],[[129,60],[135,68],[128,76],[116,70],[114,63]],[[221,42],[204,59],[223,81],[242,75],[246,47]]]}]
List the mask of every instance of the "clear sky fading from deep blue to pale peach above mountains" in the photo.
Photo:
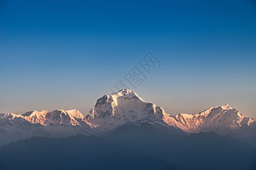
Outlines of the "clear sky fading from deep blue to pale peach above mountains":
[{"label": "clear sky fading from deep blue to pale peach above mountains", "polygon": [[0,113],[79,109],[151,52],[135,90],[169,114],[256,118],[256,2],[0,1]]}]

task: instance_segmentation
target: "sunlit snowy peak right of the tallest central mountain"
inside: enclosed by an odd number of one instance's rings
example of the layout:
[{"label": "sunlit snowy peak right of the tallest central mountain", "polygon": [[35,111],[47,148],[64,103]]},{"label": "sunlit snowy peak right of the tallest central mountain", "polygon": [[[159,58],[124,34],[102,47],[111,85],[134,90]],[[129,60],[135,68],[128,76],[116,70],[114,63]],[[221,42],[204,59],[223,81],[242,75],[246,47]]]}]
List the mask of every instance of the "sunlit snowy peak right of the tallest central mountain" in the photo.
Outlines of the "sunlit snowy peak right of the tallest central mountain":
[{"label": "sunlit snowy peak right of the tallest central mountain", "polygon": [[228,134],[232,130],[249,126],[254,120],[246,118],[237,109],[233,109],[228,104],[220,107],[212,107],[206,111],[196,114],[178,114],[175,119],[184,127],[184,131],[189,129],[189,133],[199,133],[200,131],[214,131],[218,134]]}]

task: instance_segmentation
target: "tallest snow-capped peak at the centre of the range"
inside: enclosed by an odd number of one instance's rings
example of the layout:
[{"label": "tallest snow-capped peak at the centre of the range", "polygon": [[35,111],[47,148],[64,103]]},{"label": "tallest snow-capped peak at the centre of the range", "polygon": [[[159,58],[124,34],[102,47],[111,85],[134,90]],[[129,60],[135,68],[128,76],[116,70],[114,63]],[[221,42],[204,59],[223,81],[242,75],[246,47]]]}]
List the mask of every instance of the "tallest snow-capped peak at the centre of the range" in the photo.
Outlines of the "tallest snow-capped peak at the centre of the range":
[{"label": "tallest snow-capped peak at the centre of the range", "polygon": [[86,116],[86,120],[105,130],[138,120],[162,121],[166,112],[153,103],[146,103],[134,91],[123,89],[105,95]]}]

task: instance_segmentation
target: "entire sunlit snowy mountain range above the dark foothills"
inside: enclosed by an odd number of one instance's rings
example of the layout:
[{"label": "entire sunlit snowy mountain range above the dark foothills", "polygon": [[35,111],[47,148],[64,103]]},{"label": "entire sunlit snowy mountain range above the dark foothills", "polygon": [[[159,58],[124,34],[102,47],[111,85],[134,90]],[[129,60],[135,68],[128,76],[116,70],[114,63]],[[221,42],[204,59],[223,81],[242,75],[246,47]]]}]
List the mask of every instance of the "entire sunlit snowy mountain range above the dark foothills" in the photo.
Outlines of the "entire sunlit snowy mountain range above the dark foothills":
[{"label": "entire sunlit snowy mountain range above the dark foothills", "polygon": [[77,109],[0,114],[0,145],[39,137],[68,137],[76,134],[106,135],[113,131],[139,129],[191,134],[214,131],[256,143],[256,122],[229,105],[212,107],[196,114],[171,116],[163,108],[146,103],[134,91],[121,90],[105,95],[84,117]]}]

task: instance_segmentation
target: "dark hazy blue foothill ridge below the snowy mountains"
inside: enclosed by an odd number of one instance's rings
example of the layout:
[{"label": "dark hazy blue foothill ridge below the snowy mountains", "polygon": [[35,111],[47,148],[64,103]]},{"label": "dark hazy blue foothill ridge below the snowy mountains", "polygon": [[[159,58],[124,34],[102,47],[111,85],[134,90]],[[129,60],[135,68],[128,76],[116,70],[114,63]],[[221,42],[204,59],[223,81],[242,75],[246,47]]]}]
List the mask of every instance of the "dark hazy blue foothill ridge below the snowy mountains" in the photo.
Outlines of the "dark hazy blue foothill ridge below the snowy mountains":
[{"label": "dark hazy blue foothill ridge below the snowy mountains", "polygon": [[256,167],[256,148],[245,142],[212,131],[190,135],[163,135],[158,131],[129,134],[131,124],[135,128],[131,130],[148,125],[139,122],[128,122],[126,133],[106,137],[32,137],[11,142],[0,147],[0,169],[254,170]]}]

